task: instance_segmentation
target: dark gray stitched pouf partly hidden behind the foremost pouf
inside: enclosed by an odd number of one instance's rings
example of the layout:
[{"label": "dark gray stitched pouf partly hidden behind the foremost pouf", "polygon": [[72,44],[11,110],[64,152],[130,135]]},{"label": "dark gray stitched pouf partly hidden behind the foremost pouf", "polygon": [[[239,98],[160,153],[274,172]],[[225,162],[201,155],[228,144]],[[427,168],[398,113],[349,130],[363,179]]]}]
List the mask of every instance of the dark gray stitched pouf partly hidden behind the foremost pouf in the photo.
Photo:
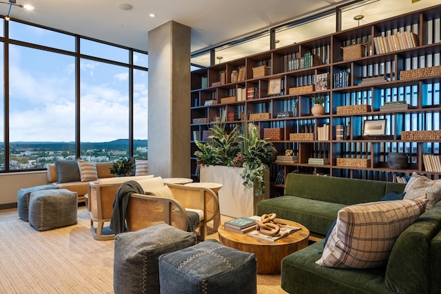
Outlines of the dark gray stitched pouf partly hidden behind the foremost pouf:
[{"label": "dark gray stitched pouf partly hidden behind the foremost pouf", "polygon": [[114,293],[159,293],[159,255],[194,244],[194,233],[164,223],[116,235]]}]

